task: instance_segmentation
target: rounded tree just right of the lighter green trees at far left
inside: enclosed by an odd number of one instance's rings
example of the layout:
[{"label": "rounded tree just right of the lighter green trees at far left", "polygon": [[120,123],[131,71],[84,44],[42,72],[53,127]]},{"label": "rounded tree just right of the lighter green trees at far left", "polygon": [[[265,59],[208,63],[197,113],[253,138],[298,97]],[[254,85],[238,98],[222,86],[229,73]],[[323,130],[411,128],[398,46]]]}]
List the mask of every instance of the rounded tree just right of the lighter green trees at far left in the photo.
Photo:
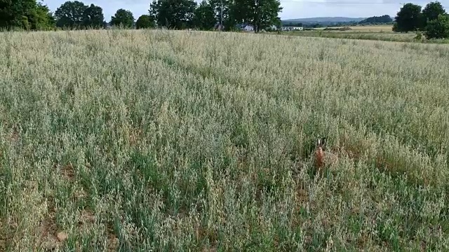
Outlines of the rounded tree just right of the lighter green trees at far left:
[{"label": "rounded tree just right of the lighter green trees at far left", "polygon": [[56,9],[56,26],[81,28],[84,26],[84,12],[88,6],[81,1],[66,1]]}]

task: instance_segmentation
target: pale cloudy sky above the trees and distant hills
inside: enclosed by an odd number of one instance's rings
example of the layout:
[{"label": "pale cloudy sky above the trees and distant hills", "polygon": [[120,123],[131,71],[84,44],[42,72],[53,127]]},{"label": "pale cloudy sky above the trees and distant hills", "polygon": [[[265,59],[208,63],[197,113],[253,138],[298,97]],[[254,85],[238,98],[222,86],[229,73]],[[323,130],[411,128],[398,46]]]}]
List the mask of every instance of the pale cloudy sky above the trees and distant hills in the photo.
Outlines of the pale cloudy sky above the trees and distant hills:
[{"label": "pale cloudy sky above the trees and distant hills", "polygon": [[[82,1],[82,0],[81,0]],[[83,1],[86,5],[91,3],[103,8],[105,20],[109,21],[116,10],[124,8],[130,10],[134,18],[147,14],[149,3],[152,0],[90,0]],[[196,0],[199,2],[200,0]],[[432,0],[404,1],[404,0],[281,0],[283,10],[281,19],[290,18],[316,18],[316,17],[349,17],[368,18],[373,15],[391,15],[394,18],[401,3],[416,3],[425,6]],[[43,0],[54,12],[65,0]],[[440,0],[447,9],[449,0]]]}]

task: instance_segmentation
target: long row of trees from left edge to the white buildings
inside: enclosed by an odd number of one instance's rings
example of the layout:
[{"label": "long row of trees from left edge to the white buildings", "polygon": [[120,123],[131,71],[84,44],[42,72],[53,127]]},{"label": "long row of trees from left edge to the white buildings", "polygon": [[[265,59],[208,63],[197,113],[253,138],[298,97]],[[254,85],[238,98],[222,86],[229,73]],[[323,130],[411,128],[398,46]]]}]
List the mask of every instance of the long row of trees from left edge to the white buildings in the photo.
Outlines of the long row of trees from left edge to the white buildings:
[{"label": "long row of trees from left edge to the white buildings", "polygon": [[[168,29],[235,29],[252,25],[255,32],[280,26],[279,0],[153,0],[146,15],[135,20],[130,10],[120,8],[109,25]],[[108,25],[100,6],[66,1],[54,13],[39,0],[0,0],[0,28],[48,30],[102,28]]]}]

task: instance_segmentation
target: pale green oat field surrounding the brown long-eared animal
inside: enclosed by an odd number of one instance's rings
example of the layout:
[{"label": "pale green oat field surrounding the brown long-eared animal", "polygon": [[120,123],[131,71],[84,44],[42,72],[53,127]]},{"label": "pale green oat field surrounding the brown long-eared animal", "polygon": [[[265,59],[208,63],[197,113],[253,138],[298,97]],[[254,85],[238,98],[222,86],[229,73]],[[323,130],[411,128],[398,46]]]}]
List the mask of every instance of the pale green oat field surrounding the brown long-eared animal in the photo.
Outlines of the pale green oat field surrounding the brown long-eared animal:
[{"label": "pale green oat field surrounding the brown long-eared animal", "polygon": [[[0,34],[0,251],[445,251],[449,48]],[[316,173],[326,137],[335,164]]]}]

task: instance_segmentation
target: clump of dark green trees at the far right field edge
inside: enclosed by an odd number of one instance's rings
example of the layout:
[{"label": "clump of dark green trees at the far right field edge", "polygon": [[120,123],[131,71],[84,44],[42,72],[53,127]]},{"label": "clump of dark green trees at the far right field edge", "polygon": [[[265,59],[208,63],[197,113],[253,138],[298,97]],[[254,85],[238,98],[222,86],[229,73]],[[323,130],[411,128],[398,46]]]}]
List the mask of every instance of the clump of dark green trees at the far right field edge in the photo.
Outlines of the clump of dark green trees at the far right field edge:
[{"label": "clump of dark green trees at the far right field edge", "polygon": [[406,3],[396,15],[393,31],[423,31],[427,39],[449,38],[449,15],[439,1],[427,3],[423,9]]}]

